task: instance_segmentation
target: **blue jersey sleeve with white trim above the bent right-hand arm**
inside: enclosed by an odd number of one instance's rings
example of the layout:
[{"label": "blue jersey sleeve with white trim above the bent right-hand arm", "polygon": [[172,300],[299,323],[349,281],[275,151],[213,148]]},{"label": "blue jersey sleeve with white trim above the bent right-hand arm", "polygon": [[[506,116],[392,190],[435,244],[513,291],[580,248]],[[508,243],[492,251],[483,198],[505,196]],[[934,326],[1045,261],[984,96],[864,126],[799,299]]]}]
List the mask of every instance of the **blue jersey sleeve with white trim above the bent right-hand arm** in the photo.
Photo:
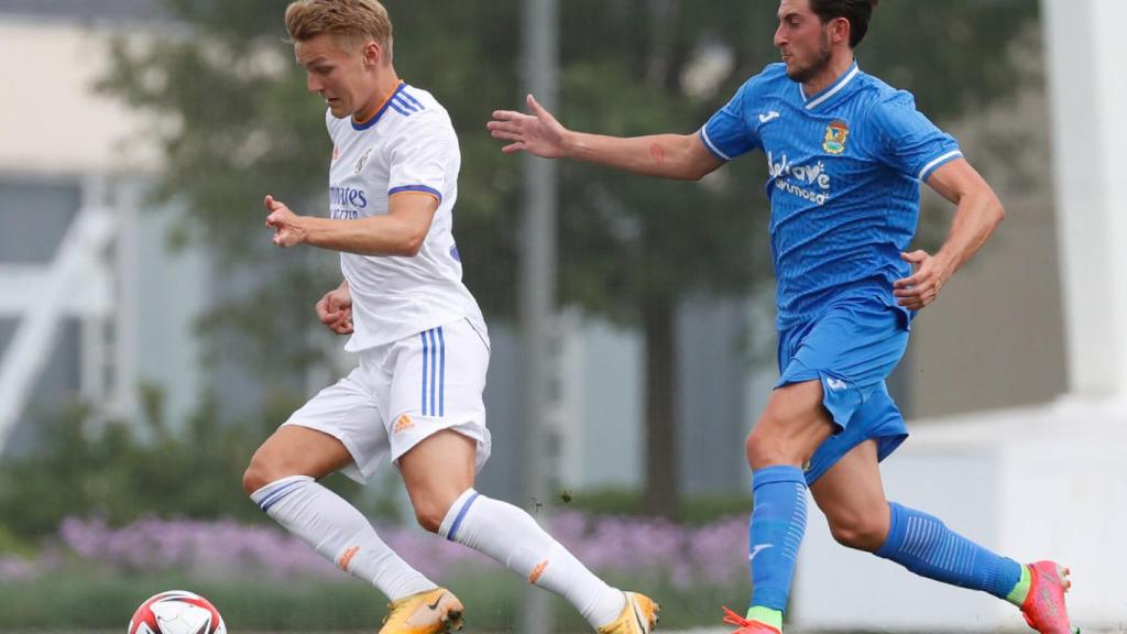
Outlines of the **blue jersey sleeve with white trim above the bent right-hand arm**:
[{"label": "blue jersey sleeve with white trim above the bent right-hand arm", "polygon": [[878,102],[872,121],[880,160],[911,178],[926,180],[940,166],[962,156],[958,141],[917,111],[915,99],[904,90]]}]

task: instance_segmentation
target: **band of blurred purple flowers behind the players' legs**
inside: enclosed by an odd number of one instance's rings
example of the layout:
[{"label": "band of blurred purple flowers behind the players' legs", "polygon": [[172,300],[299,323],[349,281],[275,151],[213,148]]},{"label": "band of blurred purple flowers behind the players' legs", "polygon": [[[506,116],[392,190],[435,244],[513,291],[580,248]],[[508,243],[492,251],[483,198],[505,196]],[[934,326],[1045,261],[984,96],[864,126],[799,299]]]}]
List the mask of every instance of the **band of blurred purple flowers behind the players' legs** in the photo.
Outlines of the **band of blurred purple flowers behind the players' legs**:
[{"label": "band of blurred purple flowers behind the players' legs", "polygon": [[[724,585],[746,574],[746,518],[703,527],[665,520],[567,511],[549,520],[552,535],[596,573],[667,579],[678,588]],[[379,526],[380,537],[423,574],[477,573],[497,564],[418,528]],[[110,528],[101,519],[68,519],[62,545],[73,556],[115,572],[175,570],[194,576],[263,575],[275,580],[344,580],[303,541],[272,526],[228,520],[141,520]],[[0,560],[0,579],[19,574]],[[30,565],[30,564],[27,564]],[[5,567],[7,566],[7,567]]]}]

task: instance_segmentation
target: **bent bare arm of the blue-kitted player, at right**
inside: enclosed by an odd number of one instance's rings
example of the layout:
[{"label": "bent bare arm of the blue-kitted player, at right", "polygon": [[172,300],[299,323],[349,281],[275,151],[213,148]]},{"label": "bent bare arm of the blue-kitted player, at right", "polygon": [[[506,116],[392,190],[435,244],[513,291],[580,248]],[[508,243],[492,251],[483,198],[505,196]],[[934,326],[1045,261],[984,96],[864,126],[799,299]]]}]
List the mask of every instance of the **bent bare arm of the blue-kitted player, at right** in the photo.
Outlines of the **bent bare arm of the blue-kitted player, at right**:
[{"label": "bent bare arm of the blue-kitted player, at right", "polygon": [[937,169],[928,185],[957,205],[951,231],[934,256],[923,250],[902,257],[916,266],[915,272],[894,284],[897,302],[920,310],[939,296],[955,275],[990,238],[1005,217],[1005,209],[994,190],[965,159],[955,159]]}]

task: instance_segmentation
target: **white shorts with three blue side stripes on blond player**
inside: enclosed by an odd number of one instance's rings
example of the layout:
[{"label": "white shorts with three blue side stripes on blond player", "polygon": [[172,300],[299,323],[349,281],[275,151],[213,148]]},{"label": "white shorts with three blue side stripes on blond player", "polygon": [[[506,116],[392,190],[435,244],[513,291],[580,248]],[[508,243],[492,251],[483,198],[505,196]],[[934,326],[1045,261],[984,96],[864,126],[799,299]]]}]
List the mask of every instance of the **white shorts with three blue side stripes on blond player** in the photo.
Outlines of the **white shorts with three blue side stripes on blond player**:
[{"label": "white shorts with three blue side stripes on blond player", "polygon": [[360,353],[360,367],[322,389],[283,425],[325,432],[353,457],[345,475],[365,483],[385,454],[399,458],[452,429],[477,441],[478,470],[489,459],[481,391],[489,368],[485,337],[462,319]]}]

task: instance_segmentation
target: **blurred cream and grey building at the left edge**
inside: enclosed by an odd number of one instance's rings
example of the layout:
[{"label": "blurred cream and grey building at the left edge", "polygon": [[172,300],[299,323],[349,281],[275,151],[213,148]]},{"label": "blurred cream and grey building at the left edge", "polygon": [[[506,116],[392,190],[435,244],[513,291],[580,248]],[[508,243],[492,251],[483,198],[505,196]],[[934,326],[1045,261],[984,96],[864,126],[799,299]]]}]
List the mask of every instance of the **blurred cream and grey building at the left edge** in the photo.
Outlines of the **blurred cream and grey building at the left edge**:
[{"label": "blurred cream and grey building at the left edge", "polygon": [[0,1],[0,449],[81,398],[136,413],[165,386],[170,416],[199,391],[192,316],[207,263],[166,248],[167,214],[142,210],[159,167],[137,120],[98,96],[108,33],[151,24],[151,0]]}]

